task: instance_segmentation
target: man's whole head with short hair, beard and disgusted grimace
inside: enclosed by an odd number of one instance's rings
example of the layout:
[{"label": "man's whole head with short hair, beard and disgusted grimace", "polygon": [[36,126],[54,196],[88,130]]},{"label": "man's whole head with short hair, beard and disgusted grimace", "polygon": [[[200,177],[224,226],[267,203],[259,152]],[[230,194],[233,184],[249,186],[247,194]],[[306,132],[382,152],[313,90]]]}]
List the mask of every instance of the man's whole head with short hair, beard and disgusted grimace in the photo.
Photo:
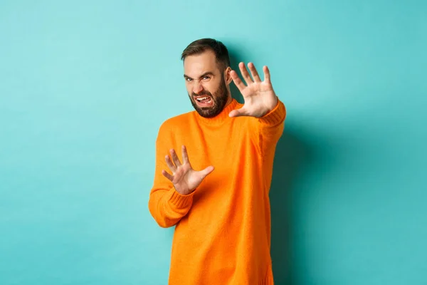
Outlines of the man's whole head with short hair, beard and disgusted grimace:
[{"label": "man's whole head with short hair, beard and disgusted grimace", "polygon": [[181,60],[194,109],[205,118],[221,113],[231,100],[228,86],[231,68],[226,46],[212,38],[202,38],[184,49]]}]

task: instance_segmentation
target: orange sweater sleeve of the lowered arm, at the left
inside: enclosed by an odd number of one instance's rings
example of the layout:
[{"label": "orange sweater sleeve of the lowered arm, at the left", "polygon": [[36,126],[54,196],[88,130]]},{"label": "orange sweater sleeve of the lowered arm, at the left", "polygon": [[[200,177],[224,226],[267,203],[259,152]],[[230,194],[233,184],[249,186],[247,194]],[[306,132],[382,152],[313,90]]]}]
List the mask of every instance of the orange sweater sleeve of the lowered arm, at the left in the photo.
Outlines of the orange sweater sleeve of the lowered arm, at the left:
[{"label": "orange sweater sleeve of the lowered arm, at the left", "polygon": [[194,192],[189,195],[179,194],[173,183],[162,175],[162,170],[170,173],[164,157],[175,147],[171,135],[170,128],[163,124],[156,140],[154,184],[148,202],[149,212],[160,227],[172,227],[178,223],[189,212],[194,195]]}]

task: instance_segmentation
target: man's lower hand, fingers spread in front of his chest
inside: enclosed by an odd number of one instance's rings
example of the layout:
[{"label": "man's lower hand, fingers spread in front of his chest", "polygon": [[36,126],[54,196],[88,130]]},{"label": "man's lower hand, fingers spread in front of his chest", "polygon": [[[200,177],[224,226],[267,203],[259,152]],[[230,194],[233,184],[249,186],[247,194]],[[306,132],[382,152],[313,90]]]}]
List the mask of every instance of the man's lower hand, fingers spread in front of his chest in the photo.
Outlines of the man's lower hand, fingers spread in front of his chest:
[{"label": "man's lower hand, fingers spread in front of his chest", "polygon": [[214,171],[213,166],[208,166],[201,171],[194,170],[193,167],[191,167],[189,156],[187,155],[186,147],[184,145],[182,146],[182,164],[179,161],[175,150],[172,149],[170,152],[173,163],[169,155],[165,157],[165,160],[169,170],[172,171],[172,175],[170,175],[166,170],[162,170],[162,175],[171,180],[174,184],[175,190],[181,195],[189,195],[196,189],[196,187],[199,187],[200,183],[207,175],[209,175],[209,173]]}]

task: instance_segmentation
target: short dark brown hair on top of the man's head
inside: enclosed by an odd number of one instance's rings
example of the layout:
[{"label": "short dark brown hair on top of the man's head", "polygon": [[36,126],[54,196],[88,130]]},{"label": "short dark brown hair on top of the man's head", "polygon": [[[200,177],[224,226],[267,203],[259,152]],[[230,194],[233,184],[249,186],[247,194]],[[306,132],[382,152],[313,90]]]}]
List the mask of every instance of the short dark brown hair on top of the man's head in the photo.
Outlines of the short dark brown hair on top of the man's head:
[{"label": "short dark brown hair on top of the man's head", "polygon": [[201,38],[193,41],[187,46],[181,54],[181,60],[184,61],[187,56],[193,56],[196,54],[203,53],[204,51],[214,51],[216,56],[216,62],[224,71],[230,66],[230,58],[228,56],[228,50],[221,41],[217,41],[214,38]]}]

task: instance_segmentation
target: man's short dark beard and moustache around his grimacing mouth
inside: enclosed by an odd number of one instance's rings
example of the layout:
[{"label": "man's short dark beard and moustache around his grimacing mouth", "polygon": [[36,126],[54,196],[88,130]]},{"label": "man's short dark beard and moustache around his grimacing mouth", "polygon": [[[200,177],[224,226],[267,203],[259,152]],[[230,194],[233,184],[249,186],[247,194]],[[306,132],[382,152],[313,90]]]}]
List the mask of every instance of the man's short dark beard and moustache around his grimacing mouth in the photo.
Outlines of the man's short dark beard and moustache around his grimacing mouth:
[{"label": "man's short dark beard and moustache around his grimacing mouth", "polygon": [[[212,107],[199,107],[196,103],[196,99],[194,99],[194,96],[200,96],[200,95],[207,95],[211,98],[211,100],[214,101],[214,105]],[[228,101],[228,90],[227,90],[227,84],[224,78],[221,79],[221,83],[219,85],[218,90],[212,95],[208,90],[203,90],[201,93],[191,93],[189,96],[191,105],[193,105],[193,108],[204,118],[214,118],[216,115],[221,113],[223,108],[226,106],[226,103]]]}]

